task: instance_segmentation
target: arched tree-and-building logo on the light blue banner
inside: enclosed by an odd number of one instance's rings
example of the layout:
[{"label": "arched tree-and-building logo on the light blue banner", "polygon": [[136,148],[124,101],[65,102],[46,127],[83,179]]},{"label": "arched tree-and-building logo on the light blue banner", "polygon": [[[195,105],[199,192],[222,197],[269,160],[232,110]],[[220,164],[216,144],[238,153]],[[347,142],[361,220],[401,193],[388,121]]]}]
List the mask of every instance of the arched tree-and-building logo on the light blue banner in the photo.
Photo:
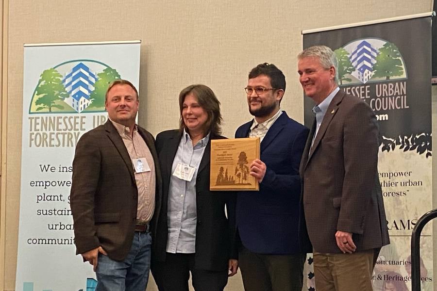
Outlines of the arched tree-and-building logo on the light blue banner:
[{"label": "arched tree-and-building logo on the light blue banner", "polygon": [[29,114],[104,112],[106,89],[117,79],[116,69],[95,60],[55,65],[39,76]]}]

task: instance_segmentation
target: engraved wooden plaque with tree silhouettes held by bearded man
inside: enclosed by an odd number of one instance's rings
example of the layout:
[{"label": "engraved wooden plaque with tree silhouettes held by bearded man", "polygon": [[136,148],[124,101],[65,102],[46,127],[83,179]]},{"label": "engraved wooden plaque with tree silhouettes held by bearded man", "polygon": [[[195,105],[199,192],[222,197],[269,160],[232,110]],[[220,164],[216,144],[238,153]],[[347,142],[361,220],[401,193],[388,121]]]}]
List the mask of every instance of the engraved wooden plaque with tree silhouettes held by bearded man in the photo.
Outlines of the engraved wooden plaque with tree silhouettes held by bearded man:
[{"label": "engraved wooden plaque with tree silhouettes held by bearded man", "polygon": [[259,159],[259,137],[211,140],[209,190],[258,191],[249,165]]}]

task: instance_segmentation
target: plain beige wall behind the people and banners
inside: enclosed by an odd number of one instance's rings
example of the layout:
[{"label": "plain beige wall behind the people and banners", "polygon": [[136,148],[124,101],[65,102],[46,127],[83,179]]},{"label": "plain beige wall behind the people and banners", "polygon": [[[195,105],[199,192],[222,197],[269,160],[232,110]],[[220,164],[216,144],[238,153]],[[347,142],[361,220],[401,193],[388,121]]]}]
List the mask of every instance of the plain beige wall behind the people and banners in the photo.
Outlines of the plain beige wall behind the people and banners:
[{"label": "plain beige wall behind the people and banners", "polygon": [[[0,290],[7,291],[15,288],[24,43],[141,39],[139,124],[153,134],[175,128],[178,93],[189,84],[204,83],[222,103],[224,134],[233,136],[251,118],[243,87],[250,69],[261,62],[284,71],[288,84],[282,107],[303,120],[295,61],[302,30],[429,12],[432,7],[432,0],[1,2],[8,25],[3,28],[7,74],[1,80],[7,94],[2,103],[9,106],[7,123],[2,118],[6,152],[1,160]],[[152,285],[148,290],[154,290]],[[240,279],[233,278],[227,290],[241,290]]]}]

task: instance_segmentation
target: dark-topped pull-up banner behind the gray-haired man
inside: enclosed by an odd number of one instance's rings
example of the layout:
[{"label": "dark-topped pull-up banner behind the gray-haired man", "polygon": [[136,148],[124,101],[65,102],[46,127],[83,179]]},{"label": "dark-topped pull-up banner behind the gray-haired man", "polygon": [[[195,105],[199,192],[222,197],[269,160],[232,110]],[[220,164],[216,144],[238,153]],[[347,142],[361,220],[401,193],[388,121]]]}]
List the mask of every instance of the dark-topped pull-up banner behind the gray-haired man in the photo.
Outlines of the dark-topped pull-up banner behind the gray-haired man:
[{"label": "dark-topped pull-up banner behind the gray-haired man", "polygon": [[[303,48],[314,45],[336,52],[340,88],[366,101],[379,120],[378,170],[391,243],[379,254],[373,289],[411,290],[411,233],[432,210],[431,17],[303,32]],[[310,127],[315,104],[304,100]],[[421,285],[431,291],[432,227],[421,235]],[[308,290],[315,290],[312,278]]]}]

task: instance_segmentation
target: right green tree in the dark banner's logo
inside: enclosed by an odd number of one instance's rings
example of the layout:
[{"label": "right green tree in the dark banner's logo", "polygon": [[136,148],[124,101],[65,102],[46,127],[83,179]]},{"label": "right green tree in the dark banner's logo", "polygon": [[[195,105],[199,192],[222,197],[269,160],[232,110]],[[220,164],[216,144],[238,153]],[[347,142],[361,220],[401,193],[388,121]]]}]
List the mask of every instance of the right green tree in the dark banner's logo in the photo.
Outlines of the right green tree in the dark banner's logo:
[{"label": "right green tree in the dark banner's logo", "polygon": [[387,42],[379,49],[373,71],[372,79],[386,77],[386,80],[390,80],[390,77],[403,75],[401,53],[395,44]]}]

